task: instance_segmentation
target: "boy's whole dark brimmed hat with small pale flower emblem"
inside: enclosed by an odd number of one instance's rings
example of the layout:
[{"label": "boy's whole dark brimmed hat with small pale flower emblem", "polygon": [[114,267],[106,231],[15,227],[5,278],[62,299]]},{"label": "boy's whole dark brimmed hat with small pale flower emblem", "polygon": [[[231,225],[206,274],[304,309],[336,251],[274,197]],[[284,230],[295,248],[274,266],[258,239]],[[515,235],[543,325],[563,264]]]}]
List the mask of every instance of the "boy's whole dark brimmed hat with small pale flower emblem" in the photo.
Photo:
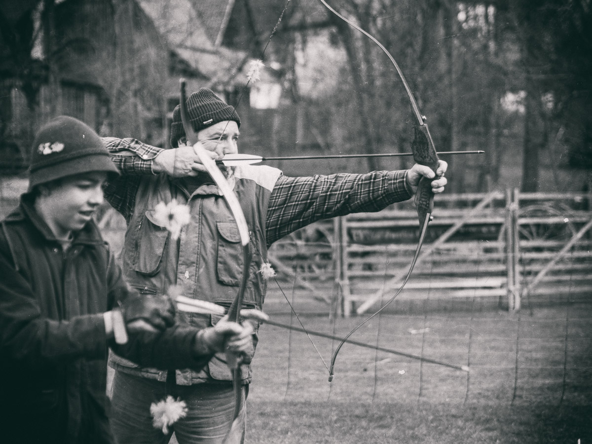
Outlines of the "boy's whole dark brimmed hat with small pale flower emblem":
[{"label": "boy's whole dark brimmed hat with small pale flower emblem", "polygon": [[33,141],[29,190],[55,179],[93,171],[119,174],[91,127],[66,115],[41,127]]}]

